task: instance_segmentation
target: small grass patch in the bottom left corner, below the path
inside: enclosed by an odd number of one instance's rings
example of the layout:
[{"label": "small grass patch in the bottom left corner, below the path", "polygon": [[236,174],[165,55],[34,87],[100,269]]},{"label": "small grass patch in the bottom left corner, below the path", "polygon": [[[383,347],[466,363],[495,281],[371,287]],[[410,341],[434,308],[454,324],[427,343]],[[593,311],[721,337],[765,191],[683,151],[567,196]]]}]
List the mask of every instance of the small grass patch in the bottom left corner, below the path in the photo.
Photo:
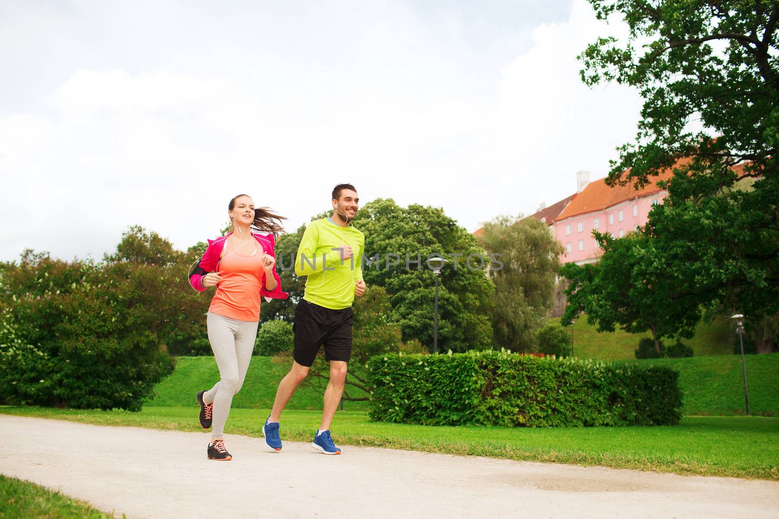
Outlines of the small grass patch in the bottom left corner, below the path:
[{"label": "small grass patch in the bottom left corner, below the path", "polygon": [[[95,510],[88,503],[73,500],[21,479],[0,474],[0,517],[5,519],[108,519],[114,515]],[[124,517],[124,516],[122,516]]]}]

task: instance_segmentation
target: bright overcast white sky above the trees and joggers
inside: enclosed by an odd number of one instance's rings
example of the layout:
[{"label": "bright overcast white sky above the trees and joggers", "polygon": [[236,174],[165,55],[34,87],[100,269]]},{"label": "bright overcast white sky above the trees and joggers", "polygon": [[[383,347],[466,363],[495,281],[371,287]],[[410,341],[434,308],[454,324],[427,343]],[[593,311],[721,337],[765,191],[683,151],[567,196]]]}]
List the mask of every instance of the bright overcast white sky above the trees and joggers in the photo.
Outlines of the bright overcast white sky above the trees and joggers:
[{"label": "bright overcast white sky above the trees and joggers", "polygon": [[580,82],[624,37],[584,0],[0,2],[0,260],[102,258],[139,224],[185,249],[248,193],[442,207],[473,231],[605,177],[640,97]]}]

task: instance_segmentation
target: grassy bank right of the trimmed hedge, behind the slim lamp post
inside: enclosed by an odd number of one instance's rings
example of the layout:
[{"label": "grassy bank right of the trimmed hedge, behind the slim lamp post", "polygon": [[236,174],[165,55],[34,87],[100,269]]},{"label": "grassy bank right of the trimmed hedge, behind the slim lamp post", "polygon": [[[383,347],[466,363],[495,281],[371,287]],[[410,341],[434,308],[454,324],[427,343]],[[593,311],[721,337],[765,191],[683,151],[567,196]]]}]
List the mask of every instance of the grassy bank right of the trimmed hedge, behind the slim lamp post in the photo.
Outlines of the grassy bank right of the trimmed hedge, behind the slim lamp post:
[{"label": "grassy bank right of the trimmed hedge, behind the slim lamp post", "polygon": [[[779,353],[744,356],[753,415],[779,416]],[[626,363],[668,366],[679,371],[684,415],[746,415],[741,356],[646,359]]]}]

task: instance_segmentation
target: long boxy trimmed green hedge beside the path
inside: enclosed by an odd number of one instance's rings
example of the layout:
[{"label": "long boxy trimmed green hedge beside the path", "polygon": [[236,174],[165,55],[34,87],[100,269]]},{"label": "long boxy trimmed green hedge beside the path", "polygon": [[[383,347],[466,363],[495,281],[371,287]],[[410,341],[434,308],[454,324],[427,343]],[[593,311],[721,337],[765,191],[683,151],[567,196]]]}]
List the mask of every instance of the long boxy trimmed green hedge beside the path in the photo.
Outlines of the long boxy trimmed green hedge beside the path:
[{"label": "long boxy trimmed green hedge beside the path", "polygon": [[371,419],[422,425],[672,425],[679,372],[507,351],[387,354],[368,361]]}]

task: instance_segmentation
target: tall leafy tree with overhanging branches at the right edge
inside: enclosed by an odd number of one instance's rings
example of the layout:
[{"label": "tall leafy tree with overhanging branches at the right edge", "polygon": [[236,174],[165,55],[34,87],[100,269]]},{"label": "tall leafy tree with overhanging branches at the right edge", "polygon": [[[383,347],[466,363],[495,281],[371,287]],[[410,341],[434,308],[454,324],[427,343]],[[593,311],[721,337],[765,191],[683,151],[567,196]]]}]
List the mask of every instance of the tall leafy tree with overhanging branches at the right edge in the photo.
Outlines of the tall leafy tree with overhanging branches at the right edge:
[{"label": "tall leafy tree with overhanging branches at the right edge", "polygon": [[[779,4],[590,3],[599,19],[623,16],[630,33],[626,42],[600,38],[587,47],[583,81],[635,86],[644,99],[636,139],[619,148],[607,182],[643,185],[666,168],[675,173],[645,228],[667,268],[655,288],[709,315],[775,314]],[[750,177],[757,180],[742,188]]]}]

